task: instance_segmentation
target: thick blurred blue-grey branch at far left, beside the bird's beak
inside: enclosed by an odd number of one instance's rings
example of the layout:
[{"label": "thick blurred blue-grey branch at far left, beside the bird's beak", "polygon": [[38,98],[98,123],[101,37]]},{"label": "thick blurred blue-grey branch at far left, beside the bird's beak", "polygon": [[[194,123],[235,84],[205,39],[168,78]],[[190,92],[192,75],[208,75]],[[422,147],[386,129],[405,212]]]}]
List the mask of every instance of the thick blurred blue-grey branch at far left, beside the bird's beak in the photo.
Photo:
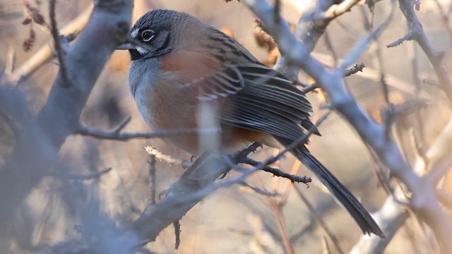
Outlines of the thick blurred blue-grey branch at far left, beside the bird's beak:
[{"label": "thick blurred blue-grey branch at far left, beside the bird's beak", "polygon": [[0,228],[11,221],[47,169],[57,165],[59,149],[76,132],[97,77],[129,32],[132,5],[131,0],[96,1],[88,25],[66,55],[66,71],[77,78],[71,87],[61,84],[61,76],[56,78],[44,107],[20,133],[0,170]]}]

